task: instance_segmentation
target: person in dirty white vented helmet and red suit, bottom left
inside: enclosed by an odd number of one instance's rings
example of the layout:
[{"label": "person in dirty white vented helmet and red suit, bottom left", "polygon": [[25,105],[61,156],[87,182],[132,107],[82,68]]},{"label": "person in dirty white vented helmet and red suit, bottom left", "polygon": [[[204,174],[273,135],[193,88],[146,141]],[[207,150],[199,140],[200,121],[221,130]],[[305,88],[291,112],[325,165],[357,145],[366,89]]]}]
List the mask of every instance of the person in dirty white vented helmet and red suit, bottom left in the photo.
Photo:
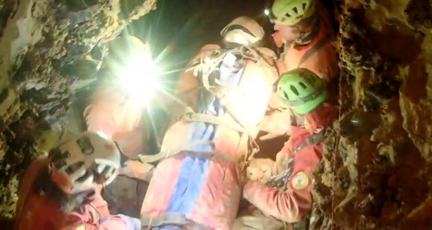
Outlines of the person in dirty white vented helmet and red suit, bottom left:
[{"label": "person in dirty white vented helmet and red suit, bottom left", "polygon": [[140,230],[139,219],[111,215],[102,186],[122,164],[114,142],[83,132],[51,149],[26,170],[19,187],[15,230]]}]

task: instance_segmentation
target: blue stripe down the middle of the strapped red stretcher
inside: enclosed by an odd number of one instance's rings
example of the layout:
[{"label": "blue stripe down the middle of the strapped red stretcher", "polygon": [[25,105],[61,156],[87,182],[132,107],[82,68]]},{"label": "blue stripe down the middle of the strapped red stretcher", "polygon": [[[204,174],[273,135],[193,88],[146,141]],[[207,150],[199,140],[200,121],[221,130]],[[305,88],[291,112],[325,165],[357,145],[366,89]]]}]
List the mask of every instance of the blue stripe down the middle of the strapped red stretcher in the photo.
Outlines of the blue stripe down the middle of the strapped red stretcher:
[{"label": "blue stripe down the middle of the strapped red stretcher", "polygon": [[[243,69],[237,73],[229,72],[229,69],[221,66],[221,80],[231,85],[238,85],[243,74]],[[224,74],[225,73],[225,74]],[[225,77],[223,77],[225,76]],[[207,95],[206,95],[207,94]],[[203,99],[208,96],[209,92],[204,91],[200,95],[200,103],[198,104],[197,113],[206,113],[223,117],[226,113],[225,107],[220,105],[219,99],[213,100],[209,105]],[[212,95],[211,95],[212,96]],[[202,103],[204,102],[204,103]],[[210,140],[213,141],[218,126],[210,123],[192,122],[190,136],[188,143],[196,142],[197,140]],[[214,151],[214,146],[209,144],[200,144],[191,147],[192,151]],[[191,214],[197,199],[200,197],[201,190],[208,175],[210,159],[206,158],[193,158],[185,157],[181,167],[180,174],[178,175],[175,189],[171,196],[166,212],[181,212],[187,217]],[[164,226],[155,228],[155,230],[180,230],[178,226]]]}]

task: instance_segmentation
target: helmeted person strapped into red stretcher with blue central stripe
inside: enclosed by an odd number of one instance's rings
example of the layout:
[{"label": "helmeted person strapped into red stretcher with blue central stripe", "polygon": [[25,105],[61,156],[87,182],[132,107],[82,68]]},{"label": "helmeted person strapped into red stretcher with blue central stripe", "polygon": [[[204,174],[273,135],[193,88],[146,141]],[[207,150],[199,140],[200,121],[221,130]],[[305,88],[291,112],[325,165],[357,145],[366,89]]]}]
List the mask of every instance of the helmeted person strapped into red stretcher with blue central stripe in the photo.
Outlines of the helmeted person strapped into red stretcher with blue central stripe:
[{"label": "helmeted person strapped into red stretcher with blue central stripe", "polygon": [[[151,229],[230,230],[241,198],[242,162],[278,78],[264,30],[251,18],[221,32],[224,49],[206,45],[181,74],[183,112],[168,129],[141,210]],[[252,148],[251,146],[254,146]]]}]

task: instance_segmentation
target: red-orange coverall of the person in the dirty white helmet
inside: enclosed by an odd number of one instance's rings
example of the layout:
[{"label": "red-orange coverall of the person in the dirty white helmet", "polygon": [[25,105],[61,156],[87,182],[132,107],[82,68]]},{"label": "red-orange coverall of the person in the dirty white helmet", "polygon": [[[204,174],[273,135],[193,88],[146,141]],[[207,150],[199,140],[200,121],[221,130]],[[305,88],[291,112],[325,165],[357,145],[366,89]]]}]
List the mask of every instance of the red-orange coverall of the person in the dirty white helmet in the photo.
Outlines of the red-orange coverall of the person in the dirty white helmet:
[{"label": "red-orange coverall of the person in the dirty white helmet", "polygon": [[132,217],[110,215],[100,189],[95,190],[92,202],[83,205],[83,213],[68,214],[46,195],[35,193],[32,184],[49,161],[35,160],[26,170],[18,191],[14,230],[137,230]]}]

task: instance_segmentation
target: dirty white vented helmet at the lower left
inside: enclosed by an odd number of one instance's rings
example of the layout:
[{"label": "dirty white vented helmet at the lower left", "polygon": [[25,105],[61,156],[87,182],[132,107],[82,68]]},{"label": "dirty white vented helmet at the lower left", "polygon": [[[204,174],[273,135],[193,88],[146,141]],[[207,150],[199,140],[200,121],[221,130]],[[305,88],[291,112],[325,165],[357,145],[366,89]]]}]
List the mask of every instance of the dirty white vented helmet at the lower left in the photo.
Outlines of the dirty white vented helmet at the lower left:
[{"label": "dirty white vented helmet at the lower left", "polygon": [[116,143],[83,132],[51,149],[52,180],[66,193],[108,185],[118,175],[121,152]]}]

